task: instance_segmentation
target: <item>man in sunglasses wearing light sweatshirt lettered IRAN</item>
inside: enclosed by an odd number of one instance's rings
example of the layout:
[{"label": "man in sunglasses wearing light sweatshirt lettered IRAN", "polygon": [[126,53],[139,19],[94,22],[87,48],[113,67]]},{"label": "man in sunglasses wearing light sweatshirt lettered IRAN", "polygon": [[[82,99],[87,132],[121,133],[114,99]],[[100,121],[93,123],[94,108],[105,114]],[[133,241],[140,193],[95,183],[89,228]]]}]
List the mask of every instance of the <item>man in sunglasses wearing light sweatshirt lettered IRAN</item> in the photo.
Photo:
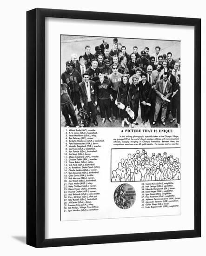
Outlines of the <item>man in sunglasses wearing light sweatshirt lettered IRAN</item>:
[{"label": "man in sunglasses wearing light sweatshirt lettered IRAN", "polygon": [[112,84],[112,108],[113,108],[113,118],[118,119],[120,111],[117,105],[115,105],[115,101],[117,99],[117,93],[118,93],[118,88],[120,87],[121,84],[121,77],[122,74],[118,72],[118,65],[113,64],[112,65],[112,70],[113,73],[108,76],[108,80]]}]

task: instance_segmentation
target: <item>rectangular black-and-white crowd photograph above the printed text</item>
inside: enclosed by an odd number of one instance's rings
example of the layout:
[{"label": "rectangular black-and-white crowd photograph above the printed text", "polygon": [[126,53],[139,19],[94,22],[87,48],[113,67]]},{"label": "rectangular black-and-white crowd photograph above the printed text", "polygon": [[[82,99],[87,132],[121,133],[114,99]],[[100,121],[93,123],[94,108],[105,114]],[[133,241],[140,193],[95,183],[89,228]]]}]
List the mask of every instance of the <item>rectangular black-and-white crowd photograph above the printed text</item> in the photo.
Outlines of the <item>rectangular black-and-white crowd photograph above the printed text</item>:
[{"label": "rectangular black-and-white crowd photograph above the printed text", "polygon": [[61,127],[179,128],[180,45],[60,35]]}]

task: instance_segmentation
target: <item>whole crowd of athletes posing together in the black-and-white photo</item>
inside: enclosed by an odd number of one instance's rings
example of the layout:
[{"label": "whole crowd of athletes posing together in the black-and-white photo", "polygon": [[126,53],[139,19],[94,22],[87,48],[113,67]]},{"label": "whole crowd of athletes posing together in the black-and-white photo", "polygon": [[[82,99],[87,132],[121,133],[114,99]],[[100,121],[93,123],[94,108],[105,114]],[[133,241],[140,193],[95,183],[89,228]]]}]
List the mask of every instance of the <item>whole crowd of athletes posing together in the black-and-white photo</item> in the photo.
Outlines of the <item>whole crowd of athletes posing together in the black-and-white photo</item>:
[{"label": "whole crowd of athletes posing together in the black-and-white photo", "polygon": [[86,126],[98,126],[99,112],[102,125],[106,118],[109,122],[121,118],[122,127],[134,127],[140,106],[145,127],[150,118],[155,126],[159,115],[165,126],[170,113],[170,122],[177,119],[180,127],[180,58],[173,60],[171,52],[162,54],[159,46],[153,55],[149,50],[145,47],[139,54],[134,46],[128,54],[126,46],[114,38],[111,49],[103,40],[94,54],[89,45],[79,57],[72,54],[61,74],[61,110],[66,126],[80,126],[77,115],[84,110]]}]

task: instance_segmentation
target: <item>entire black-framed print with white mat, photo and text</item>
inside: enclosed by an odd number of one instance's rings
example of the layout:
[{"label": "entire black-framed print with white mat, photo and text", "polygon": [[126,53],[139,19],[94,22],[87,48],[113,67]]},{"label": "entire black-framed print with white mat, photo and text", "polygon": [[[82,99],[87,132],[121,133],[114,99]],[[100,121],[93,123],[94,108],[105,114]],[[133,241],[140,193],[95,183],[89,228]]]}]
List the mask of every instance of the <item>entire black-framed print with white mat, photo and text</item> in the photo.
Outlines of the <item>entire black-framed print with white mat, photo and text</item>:
[{"label": "entire black-framed print with white mat, photo and text", "polygon": [[200,31],[27,12],[27,244],[200,236]]}]

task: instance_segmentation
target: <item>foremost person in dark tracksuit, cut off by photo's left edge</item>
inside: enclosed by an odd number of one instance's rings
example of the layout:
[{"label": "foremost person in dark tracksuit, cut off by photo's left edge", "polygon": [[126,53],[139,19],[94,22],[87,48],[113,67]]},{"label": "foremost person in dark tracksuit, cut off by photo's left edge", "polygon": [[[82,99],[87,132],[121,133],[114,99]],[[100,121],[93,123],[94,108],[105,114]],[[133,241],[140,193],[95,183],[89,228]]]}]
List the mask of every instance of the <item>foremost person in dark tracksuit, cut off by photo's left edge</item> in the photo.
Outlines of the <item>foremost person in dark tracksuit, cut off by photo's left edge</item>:
[{"label": "foremost person in dark tracksuit, cut off by photo's left edge", "polygon": [[66,120],[66,125],[71,126],[71,121],[69,118],[69,115],[71,116],[71,119],[73,121],[73,125],[77,127],[78,121],[77,117],[74,111],[73,103],[72,100],[69,96],[69,87],[66,83],[61,84],[61,112],[62,115],[64,115],[65,120]]}]

